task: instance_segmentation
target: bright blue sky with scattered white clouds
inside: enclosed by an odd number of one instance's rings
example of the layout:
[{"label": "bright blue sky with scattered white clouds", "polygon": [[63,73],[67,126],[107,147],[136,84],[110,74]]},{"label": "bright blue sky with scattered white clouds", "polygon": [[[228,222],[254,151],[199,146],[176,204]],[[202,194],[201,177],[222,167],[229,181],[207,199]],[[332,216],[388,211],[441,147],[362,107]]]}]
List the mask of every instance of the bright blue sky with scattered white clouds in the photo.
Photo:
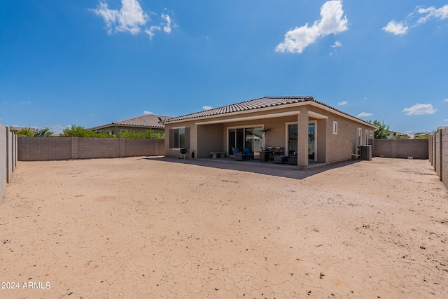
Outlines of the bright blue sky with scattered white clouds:
[{"label": "bright blue sky with scattered white clouds", "polygon": [[0,0],[2,125],[93,127],[311,95],[448,125],[448,1]]}]

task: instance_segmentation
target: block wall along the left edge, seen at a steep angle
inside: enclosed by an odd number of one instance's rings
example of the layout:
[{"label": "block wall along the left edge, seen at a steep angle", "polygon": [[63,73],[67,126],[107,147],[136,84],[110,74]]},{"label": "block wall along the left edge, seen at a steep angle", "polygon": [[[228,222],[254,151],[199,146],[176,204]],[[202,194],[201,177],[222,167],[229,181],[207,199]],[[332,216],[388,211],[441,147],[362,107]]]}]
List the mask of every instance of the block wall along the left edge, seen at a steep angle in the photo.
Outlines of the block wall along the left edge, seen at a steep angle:
[{"label": "block wall along the left edge, seen at a steep angle", "polygon": [[0,125],[0,196],[17,166],[17,154],[17,137],[8,127]]}]

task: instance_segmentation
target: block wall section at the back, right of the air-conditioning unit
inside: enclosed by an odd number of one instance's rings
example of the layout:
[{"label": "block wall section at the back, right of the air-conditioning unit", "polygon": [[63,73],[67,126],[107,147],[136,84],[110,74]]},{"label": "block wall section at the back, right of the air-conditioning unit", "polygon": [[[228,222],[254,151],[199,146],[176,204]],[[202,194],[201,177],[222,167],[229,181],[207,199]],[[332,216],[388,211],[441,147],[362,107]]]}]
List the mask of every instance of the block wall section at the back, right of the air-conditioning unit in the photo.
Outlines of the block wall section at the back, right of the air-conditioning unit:
[{"label": "block wall section at the back, right of the air-conditioning unit", "polygon": [[372,156],[428,159],[428,139],[372,139]]}]

